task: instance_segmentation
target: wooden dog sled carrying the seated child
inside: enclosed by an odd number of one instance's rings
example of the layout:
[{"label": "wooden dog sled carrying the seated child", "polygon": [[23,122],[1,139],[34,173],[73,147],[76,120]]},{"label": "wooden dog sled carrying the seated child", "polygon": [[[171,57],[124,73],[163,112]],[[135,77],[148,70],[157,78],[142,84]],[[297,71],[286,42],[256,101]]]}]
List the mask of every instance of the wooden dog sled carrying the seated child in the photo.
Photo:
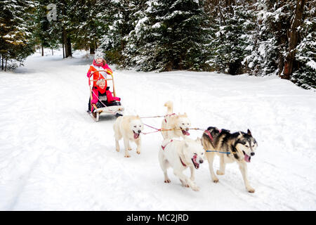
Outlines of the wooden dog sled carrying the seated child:
[{"label": "wooden dog sled carrying the seated child", "polygon": [[[108,72],[107,70],[96,70],[94,72]],[[117,97],[117,94],[115,92],[115,86],[114,86],[114,77],[112,73],[110,73],[111,78],[105,79],[107,86],[109,86],[108,82],[112,82],[112,96]],[[100,77],[99,77],[100,78]],[[89,87],[90,87],[90,103],[91,103],[91,115],[93,119],[98,122],[100,120],[100,115],[105,114],[105,115],[114,115],[116,117],[119,117],[124,114],[124,107],[120,105],[110,105],[107,106],[105,104],[102,104],[103,107],[97,107],[96,104],[92,103],[92,98],[93,98],[93,84],[95,84],[98,81],[98,79],[93,79],[93,75],[89,78]],[[111,86],[110,86],[111,87]]]}]

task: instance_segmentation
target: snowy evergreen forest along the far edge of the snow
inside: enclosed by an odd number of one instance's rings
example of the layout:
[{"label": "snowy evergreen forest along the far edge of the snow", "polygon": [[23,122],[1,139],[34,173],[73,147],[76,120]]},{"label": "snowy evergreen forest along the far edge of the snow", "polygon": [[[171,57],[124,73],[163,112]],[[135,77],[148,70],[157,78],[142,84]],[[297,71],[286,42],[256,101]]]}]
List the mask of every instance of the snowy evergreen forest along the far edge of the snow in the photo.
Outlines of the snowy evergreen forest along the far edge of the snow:
[{"label": "snowy evergreen forest along the far edge of the snow", "polygon": [[142,71],[278,75],[316,88],[316,1],[2,0],[1,69],[34,46]]}]

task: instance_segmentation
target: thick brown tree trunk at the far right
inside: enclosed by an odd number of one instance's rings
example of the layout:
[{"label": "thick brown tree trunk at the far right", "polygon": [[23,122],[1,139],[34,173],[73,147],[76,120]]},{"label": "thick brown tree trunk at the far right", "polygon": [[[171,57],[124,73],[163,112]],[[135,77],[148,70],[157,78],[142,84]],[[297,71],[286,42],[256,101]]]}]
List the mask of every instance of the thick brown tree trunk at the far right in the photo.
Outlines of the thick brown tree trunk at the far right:
[{"label": "thick brown tree trunk at the far right", "polygon": [[290,79],[293,73],[293,65],[296,54],[296,46],[298,44],[298,30],[297,27],[302,24],[302,17],[304,11],[305,0],[298,0],[296,4],[296,10],[294,19],[291,23],[291,32],[289,39],[289,50],[284,60],[284,68],[282,73],[279,75],[282,79]]}]

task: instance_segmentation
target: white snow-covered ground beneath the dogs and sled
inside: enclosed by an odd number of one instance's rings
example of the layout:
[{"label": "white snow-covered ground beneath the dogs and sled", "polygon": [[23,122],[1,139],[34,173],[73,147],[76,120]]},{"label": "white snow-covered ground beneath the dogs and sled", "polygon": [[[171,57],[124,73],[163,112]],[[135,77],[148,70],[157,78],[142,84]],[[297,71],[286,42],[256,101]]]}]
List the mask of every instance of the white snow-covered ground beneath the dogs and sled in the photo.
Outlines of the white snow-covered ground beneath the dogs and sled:
[{"label": "white snow-covered ground beneath the dogs and sled", "polygon": [[[256,193],[246,192],[237,164],[214,184],[206,161],[195,192],[171,169],[164,183],[161,134],[143,135],[140,155],[135,145],[131,158],[122,143],[115,151],[114,117],[94,122],[86,113],[91,58],[84,54],[37,53],[16,72],[0,72],[0,210],[316,210],[315,92],[277,77],[114,70],[126,115],[164,115],[172,100],[192,127],[251,130]],[[143,122],[159,127],[161,120]]]}]

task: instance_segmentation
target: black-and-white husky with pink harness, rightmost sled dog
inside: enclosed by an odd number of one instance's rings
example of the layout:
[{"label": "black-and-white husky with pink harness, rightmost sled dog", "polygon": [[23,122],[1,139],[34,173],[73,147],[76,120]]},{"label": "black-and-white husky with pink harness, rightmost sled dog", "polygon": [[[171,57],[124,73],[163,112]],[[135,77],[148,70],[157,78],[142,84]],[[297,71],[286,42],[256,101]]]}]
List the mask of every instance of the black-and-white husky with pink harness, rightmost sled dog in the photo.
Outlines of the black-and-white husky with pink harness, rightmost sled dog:
[{"label": "black-and-white husky with pink harness, rightmost sled dog", "polygon": [[255,192],[255,189],[250,186],[248,181],[246,162],[250,162],[251,157],[255,155],[258,144],[249,129],[247,133],[238,131],[230,134],[229,130],[209,127],[202,135],[202,145],[204,150],[206,150],[206,159],[209,161],[209,171],[214,183],[218,182],[218,178],[213,172],[213,159],[215,155],[218,155],[220,158],[220,169],[217,170],[216,174],[225,174],[226,163],[237,162],[240,172],[242,172],[246,190],[250,193]]}]

